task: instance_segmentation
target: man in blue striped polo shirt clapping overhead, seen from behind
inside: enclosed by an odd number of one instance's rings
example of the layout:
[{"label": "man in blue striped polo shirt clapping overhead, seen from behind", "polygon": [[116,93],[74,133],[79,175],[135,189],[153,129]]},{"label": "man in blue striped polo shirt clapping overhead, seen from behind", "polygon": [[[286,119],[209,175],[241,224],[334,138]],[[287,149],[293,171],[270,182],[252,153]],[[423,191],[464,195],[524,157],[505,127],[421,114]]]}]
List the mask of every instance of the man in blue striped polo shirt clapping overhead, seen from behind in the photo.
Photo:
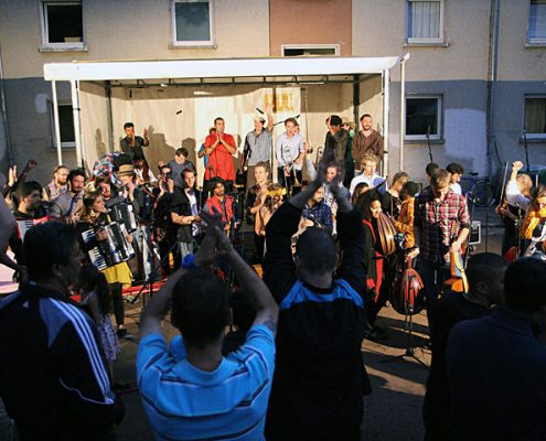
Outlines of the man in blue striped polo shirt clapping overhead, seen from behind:
[{"label": "man in blue striped polo shirt clapping overhead, seen from behind", "polygon": [[[275,366],[278,306],[265,283],[234,250],[222,216],[202,214],[208,227],[195,255],[142,314],[137,377],[158,440],[263,440]],[[257,314],[246,343],[222,356],[231,323],[226,284],[204,268],[224,255]],[[161,319],[181,335],[168,346]]]}]

